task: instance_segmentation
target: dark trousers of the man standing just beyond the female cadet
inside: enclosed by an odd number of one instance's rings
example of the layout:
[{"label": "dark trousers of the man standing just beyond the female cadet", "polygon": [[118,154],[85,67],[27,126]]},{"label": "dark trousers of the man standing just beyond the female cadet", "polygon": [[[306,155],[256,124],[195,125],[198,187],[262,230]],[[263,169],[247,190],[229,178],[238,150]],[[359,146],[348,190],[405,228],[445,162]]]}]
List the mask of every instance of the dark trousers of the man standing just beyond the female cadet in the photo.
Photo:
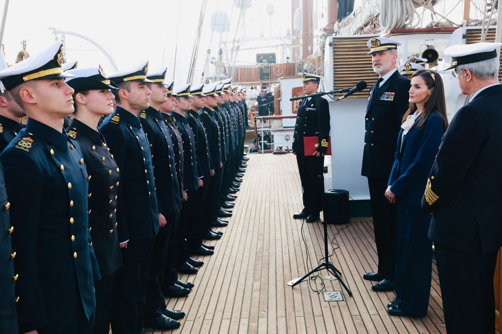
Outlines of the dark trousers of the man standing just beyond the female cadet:
[{"label": "dark trousers of the man standing just beyond the female cadet", "polygon": [[111,330],[113,334],[143,332],[148,273],[154,239],[129,240],[121,248],[124,265],[117,270]]}]

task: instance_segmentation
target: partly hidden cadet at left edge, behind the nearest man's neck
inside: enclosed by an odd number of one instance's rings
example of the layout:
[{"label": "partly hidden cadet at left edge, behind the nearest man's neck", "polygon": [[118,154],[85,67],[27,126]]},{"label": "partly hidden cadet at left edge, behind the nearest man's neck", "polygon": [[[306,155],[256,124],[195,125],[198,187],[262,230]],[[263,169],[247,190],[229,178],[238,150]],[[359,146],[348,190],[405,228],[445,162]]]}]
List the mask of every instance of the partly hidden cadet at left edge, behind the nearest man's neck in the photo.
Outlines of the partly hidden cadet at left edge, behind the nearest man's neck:
[{"label": "partly hidden cadet at left edge, behind the nearest man's neck", "polygon": [[26,113],[12,99],[11,93],[6,90],[0,93],[0,152],[24,128],[21,124],[23,116],[26,116]]}]

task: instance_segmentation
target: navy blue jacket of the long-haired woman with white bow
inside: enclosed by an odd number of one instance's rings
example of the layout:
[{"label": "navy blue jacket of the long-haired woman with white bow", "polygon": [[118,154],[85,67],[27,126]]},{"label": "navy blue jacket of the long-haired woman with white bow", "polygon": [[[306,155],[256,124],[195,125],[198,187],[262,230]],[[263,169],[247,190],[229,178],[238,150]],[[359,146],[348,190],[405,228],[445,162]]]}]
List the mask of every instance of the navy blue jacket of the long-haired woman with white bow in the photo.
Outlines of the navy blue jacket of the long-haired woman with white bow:
[{"label": "navy blue jacket of the long-haired woman with white bow", "polygon": [[419,117],[404,137],[404,130],[399,132],[389,178],[389,186],[396,200],[410,207],[420,207],[429,171],[444,134],[443,119],[437,112],[427,117],[422,129],[417,127],[418,122]]}]

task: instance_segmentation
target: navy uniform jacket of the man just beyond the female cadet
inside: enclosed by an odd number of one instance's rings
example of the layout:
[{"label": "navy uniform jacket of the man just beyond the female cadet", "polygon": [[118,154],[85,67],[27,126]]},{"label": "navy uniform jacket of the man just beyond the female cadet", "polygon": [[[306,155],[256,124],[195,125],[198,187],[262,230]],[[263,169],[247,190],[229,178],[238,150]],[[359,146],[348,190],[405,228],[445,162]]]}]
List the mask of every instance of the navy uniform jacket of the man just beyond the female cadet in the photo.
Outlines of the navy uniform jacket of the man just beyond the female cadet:
[{"label": "navy uniform jacket of the man just beyond the female cadet", "polygon": [[150,143],[140,119],[117,106],[100,128],[118,165],[121,186],[117,189],[118,240],[145,240],[159,233]]}]

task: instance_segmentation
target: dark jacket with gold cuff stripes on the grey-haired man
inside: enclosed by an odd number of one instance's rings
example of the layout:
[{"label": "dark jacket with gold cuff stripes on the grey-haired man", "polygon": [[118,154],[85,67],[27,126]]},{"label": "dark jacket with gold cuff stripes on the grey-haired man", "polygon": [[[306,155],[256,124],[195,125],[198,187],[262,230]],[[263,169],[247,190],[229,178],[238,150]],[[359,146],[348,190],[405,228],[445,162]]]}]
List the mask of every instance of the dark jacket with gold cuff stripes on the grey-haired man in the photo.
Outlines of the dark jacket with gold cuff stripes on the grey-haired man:
[{"label": "dark jacket with gold cuff stripes on the grey-haired man", "polygon": [[422,198],[434,242],[483,253],[502,245],[500,96],[502,85],[481,91],[443,136]]}]

